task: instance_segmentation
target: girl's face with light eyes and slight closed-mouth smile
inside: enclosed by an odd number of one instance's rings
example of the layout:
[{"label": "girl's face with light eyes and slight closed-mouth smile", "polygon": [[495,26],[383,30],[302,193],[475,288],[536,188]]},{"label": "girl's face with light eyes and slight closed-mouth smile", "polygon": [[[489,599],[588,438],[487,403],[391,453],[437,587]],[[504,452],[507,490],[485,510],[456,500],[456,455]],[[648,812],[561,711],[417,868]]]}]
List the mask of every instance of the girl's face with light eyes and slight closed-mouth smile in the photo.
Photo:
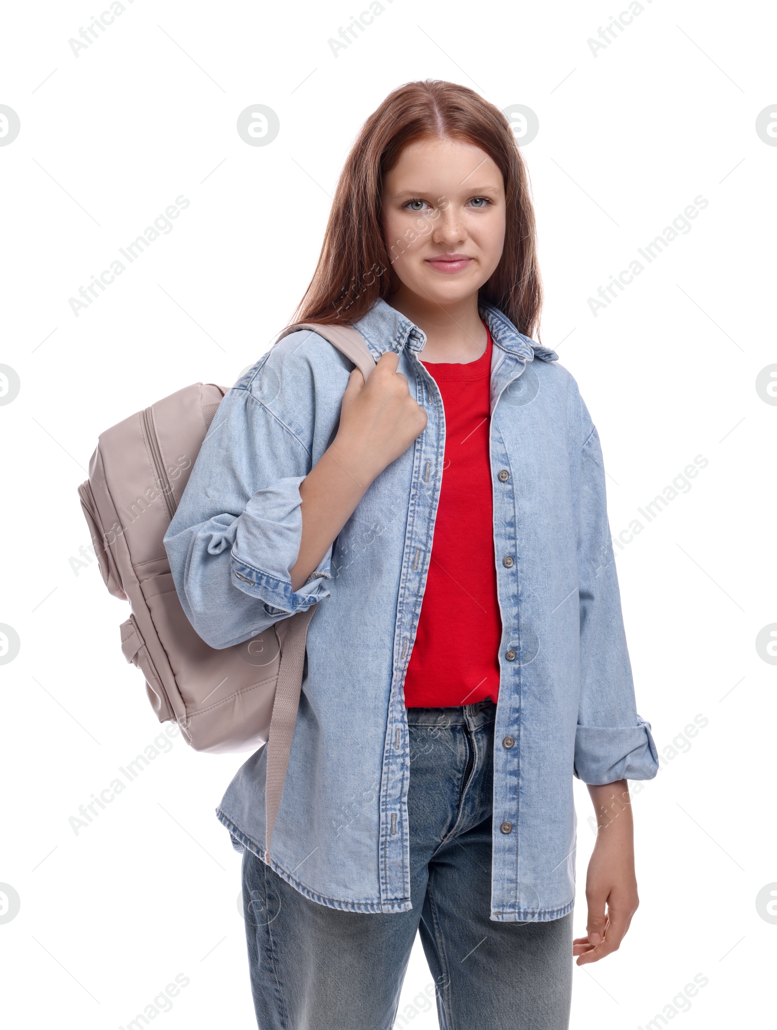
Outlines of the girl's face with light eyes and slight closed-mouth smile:
[{"label": "girl's face with light eyes and slight closed-mouth smile", "polygon": [[411,143],[384,177],[381,221],[400,293],[460,304],[477,296],[502,256],[502,173],[474,143]]}]

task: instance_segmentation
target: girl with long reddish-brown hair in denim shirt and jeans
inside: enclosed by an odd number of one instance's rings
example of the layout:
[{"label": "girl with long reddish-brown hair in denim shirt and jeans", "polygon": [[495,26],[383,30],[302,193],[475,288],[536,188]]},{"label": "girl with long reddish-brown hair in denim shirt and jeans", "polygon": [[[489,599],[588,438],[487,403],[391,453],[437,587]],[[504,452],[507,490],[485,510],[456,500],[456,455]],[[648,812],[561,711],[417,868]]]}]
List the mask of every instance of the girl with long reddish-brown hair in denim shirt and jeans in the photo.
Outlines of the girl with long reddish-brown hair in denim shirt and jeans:
[{"label": "girl with long reddish-brown hair in denim shirt and jeans", "polygon": [[[440,1025],[562,1030],[572,958],[637,908],[635,708],[599,438],[533,339],[541,284],[507,119],[411,82],[345,163],[295,332],[235,384],[165,538],[212,647],[316,606],[268,850],[267,748],[217,816],[243,853],[263,1030],[388,1030],[416,931]],[[272,747],[272,742],[269,747]],[[572,939],[572,777],[600,832]]]}]

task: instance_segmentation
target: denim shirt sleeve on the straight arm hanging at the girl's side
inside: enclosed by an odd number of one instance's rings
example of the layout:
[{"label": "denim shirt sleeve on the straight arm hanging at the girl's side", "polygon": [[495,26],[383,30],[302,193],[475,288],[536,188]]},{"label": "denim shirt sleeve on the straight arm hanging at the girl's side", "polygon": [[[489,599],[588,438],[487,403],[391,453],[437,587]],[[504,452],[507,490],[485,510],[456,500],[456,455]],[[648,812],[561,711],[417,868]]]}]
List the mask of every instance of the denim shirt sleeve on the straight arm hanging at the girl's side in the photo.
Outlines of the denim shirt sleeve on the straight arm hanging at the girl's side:
[{"label": "denim shirt sleeve on the straight arm hanging at the girl's side", "polygon": [[578,497],[580,705],[574,774],[588,784],[651,780],[658,756],[650,723],[637,714],[594,427],[580,452]]}]

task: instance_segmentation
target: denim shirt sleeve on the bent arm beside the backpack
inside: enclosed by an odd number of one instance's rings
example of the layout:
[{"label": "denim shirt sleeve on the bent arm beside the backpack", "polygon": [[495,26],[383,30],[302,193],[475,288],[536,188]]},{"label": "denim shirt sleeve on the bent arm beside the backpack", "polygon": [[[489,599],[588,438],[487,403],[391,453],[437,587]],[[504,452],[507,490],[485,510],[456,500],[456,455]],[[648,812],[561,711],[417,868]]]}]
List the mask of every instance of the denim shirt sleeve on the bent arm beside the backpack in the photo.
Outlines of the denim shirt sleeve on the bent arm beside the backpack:
[{"label": "denim shirt sleeve on the bent arm beside the backpack", "polygon": [[[306,363],[288,348],[233,387],[165,535],[181,606],[211,647],[240,644],[329,596],[332,547],[299,590],[290,576],[302,538],[300,483],[324,446],[313,443],[313,392]],[[333,426],[316,430],[326,440]]]}]

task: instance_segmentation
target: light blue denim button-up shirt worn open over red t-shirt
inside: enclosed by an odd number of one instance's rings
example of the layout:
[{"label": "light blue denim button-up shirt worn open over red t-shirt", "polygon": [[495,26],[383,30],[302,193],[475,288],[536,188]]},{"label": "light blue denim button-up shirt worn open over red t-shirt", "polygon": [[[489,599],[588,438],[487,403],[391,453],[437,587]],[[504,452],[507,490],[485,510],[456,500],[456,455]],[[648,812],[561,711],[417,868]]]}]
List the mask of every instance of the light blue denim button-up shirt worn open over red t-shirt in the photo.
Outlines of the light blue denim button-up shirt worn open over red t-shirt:
[{"label": "light blue denim button-up shirt worn open over red t-shirt", "polygon": [[[494,339],[503,625],[491,919],[552,920],[574,904],[573,775],[589,784],[648,780],[657,755],[635,707],[597,431],[558,355],[496,308],[481,315]],[[299,485],[334,437],[351,369],[315,333],[273,346],[225,397],[165,546],[184,611],[211,647],[318,603],[269,865],[322,904],[393,913],[423,903],[410,897],[403,682],[430,564],[445,418],[418,360],[424,333],[383,301],[357,329],[375,358],[400,355],[429,420],[372,483],[308,582],[294,591],[289,576],[302,528]],[[451,627],[449,646],[468,647],[466,628]],[[262,748],[216,815],[237,850],[268,861],[265,765]]]}]

